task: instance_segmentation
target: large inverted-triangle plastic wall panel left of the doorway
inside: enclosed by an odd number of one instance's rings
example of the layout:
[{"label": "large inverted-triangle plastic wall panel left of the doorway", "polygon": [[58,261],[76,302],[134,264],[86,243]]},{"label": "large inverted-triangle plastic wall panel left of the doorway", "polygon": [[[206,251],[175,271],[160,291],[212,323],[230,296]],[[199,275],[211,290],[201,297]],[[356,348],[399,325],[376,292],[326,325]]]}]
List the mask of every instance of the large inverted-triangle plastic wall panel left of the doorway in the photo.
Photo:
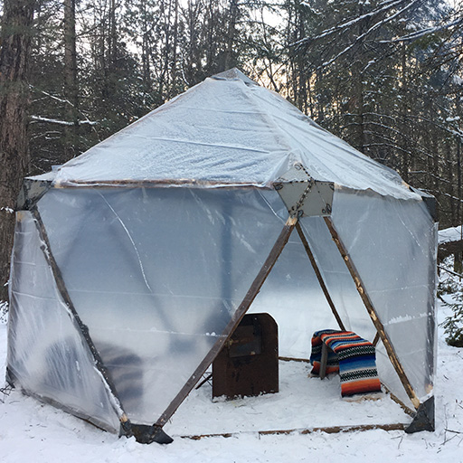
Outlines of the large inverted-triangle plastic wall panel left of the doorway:
[{"label": "large inverted-triangle plastic wall panel left of the doorway", "polygon": [[141,424],[222,336],[284,224],[258,189],[52,189],[38,206],[71,299]]}]

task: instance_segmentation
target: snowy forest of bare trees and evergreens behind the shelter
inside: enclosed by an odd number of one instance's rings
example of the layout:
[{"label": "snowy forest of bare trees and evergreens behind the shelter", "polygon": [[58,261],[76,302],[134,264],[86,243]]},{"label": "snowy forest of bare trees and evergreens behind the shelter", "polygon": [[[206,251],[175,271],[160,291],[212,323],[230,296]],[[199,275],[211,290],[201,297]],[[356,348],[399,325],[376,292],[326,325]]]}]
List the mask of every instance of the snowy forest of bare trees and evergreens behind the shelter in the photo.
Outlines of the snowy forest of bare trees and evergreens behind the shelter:
[{"label": "snowy forest of bare trees and evergreens behind the shelter", "polygon": [[24,175],[238,67],[463,218],[458,0],[0,0],[0,301]]}]

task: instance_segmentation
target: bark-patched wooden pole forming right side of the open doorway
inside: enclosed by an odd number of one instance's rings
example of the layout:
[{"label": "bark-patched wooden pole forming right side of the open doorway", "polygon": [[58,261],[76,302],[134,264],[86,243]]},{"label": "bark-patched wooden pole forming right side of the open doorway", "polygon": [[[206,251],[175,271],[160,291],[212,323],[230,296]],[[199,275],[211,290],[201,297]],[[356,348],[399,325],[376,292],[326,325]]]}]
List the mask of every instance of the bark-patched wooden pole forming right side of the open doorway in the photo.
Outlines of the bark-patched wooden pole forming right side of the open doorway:
[{"label": "bark-patched wooden pole forming right side of the open doorway", "polygon": [[360,298],[362,298],[362,301],[364,302],[364,306],[366,307],[368,314],[372,318],[373,325],[376,328],[376,331],[378,332],[378,334],[380,335],[381,340],[383,341],[383,345],[386,349],[389,359],[391,360],[392,366],[394,367],[395,371],[399,375],[403,388],[407,392],[407,395],[410,397],[411,403],[413,404],[415,409],[418,410],[418,408],[420,407],[420,399],[417,397],[416,393],[413,391],[413,388],[411,387],[411,383],[409,379],[407,378],[405,371],[403,370],[402,364],[399,361],[397,354],[395,354],[395,350],[392,346],[392,343],[389,340],[388,336],[386,335],[386,332],[384,331],[383,323],[378,318],[376,314],[376,310],[373,307],[373,303],[370,297],[368,296],[368,293],[366,292],[366,289],[364,287],[364,283],[360,277],[360,274],[357,271],[357,269],[355,269],[354,262],[351,260],[345,248],[344,243],[341,241],[337,231],[335,230],[335,225],[333,221],[331,220],[331,217],[324,217],[324,219],[326,222],[326,226],[328,227],[328,230],[331,233],[333,241],[335,241],[335,245],[337,246],[337,249],[341,253],[341,256],[343,257],[343,260],[345,262],[347,269],[349,270],[349,273],[351,274],[351,277],[354,279],[355,288],[357,288]]}]

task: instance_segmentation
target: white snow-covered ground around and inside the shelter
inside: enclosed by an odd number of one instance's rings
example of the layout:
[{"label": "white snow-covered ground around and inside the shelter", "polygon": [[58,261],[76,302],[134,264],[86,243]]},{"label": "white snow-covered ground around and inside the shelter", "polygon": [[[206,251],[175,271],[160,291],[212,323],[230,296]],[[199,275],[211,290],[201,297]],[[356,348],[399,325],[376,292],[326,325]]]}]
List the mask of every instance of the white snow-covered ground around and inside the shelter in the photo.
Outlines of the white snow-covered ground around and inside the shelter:
[{"label": "white snow-covered ground around and inside the shelter", "polygon": [[[439,320],[446,315],[439,307]],[[5,365],[6,326],[0,323],[0,365]],[[20,392],[0,393],[0,461],[13,462],[463,462],[463,349],[449,347],[439,330],[436,378],[437,429],[366,430],[327,434],[260,435],[256,430],[301,429],[327,424],[407,422],[389,399],[347,403],[338,399],[336,377],[307,378],[307,365],[283,363],[280,393],[231,402],[211,402],[209,385],[195,391],[165,430],[174,443],[138,444],[118,439]],[[5,368],[2,366],[2,375]],[[337,382],[337,383],[336,383]],[[314,401],[315,398],[315,401]],[[335,400],[333,400],[335,398]],[[379,418],[381,415],[382,418]],[[199,440],[179,436],[231,432]]]}]

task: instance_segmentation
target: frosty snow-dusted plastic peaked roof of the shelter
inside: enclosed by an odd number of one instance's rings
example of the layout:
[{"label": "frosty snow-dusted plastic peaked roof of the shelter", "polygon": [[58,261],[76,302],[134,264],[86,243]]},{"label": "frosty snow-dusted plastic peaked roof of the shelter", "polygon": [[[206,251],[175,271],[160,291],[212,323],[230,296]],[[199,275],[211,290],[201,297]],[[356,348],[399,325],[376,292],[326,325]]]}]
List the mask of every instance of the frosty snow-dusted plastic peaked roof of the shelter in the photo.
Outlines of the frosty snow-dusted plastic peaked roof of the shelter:
[{"label": "frosty snow-dusted plastic peaked roof of the shelter", "polygon": [[56,184],[269,186],[295,163],[314,179],[418,198],[392,169],[231,69],[203,80],[62,165]]}]

